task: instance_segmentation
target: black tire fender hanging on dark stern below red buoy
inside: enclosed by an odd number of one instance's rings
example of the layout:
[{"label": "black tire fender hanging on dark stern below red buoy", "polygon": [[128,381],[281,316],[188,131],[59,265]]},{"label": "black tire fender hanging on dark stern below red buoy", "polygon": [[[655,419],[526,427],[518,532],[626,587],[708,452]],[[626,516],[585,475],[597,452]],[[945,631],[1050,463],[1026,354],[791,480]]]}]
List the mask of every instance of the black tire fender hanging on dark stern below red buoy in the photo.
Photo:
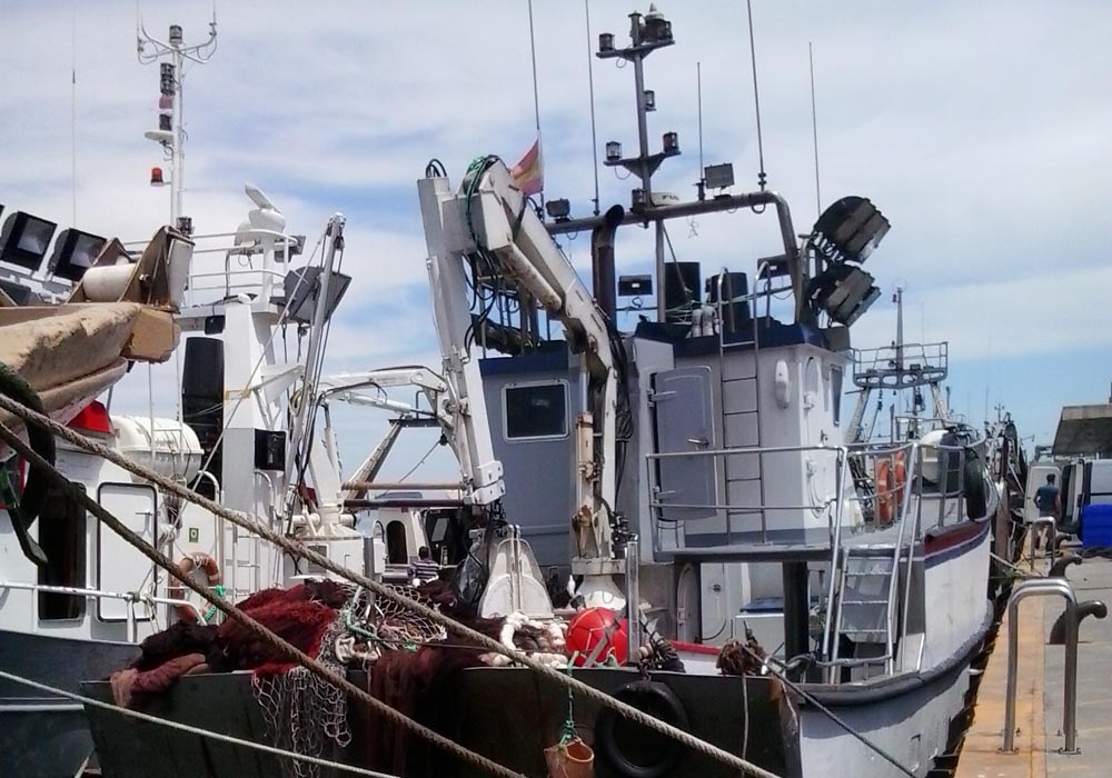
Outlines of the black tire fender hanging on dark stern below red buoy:
[{"label": "black tire fender hanging on dark stern below red buoy", "polygon": [[[618,689],[614,697],[637,710],[672,726],[691,731],[687,710],[676,694],[664,684],[651,680],[634,681]],[[651,738],[651,740],[648,740]],[[638,747],[633,750],[631,741],[651,742],[652,748]],[[685,748],[675,740],[658,735],[642,725],[634,724],[613,708],[603,708],[595,720],[595,754],[606,762],[614,772],[623,778],[664,778],[672,775]],[[653,751],[657,751],[653,758]],[[633,756],[648,756],[634,760]]]}]

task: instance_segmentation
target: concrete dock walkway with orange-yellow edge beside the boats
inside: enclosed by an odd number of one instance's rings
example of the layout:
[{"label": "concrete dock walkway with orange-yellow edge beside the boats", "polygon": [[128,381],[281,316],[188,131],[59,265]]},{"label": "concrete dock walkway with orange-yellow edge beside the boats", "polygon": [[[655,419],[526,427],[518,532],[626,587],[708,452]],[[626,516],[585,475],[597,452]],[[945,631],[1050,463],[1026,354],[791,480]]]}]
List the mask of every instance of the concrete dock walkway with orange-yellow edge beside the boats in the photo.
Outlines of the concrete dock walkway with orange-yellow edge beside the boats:
[{"label": "concrete dock walkway with orange-yellow edge beside the boats", "polygon": [[[1024,562],[1024,567],[1026,567]],[[1036,561],[1036,570],[1046,562]],[[1066,577],[1078,600],[1112,602],[1112,559],[1086,559]],[[1062,754],[1065,649],[1048,645],[1063,610],[1060,597],[1030,597],[1020,602],[1019,681],[1015,700],[1015,752],[1002,754],[1004,688],[1007,681],[1005,615],[977,695],[973,724],[965,736],[955,778],[1044,778],[1105,776],[1112,765],[1112,621],[1093,617],[1081,622],[1078,646],[1078,748]]]}]

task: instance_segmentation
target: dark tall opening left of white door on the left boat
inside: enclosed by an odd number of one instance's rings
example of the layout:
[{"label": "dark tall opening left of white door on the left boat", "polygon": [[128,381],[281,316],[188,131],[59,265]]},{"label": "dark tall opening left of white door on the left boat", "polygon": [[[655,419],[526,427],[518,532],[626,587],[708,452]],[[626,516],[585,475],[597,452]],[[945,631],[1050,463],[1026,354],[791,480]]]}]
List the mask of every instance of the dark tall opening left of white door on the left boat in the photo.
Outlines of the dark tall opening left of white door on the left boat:
[{"label": "dark tall opening left of white door on the left boat", "polygon": [[[88,520],[85,508],[67,493],[51,489],[39,513],[39,546],[47,555],[47,566],[39,568],[40,586],[85,588],[86,538]],[[52,591],[39,592],[39,619],[58,621],[85,616],[86,599]]]}]

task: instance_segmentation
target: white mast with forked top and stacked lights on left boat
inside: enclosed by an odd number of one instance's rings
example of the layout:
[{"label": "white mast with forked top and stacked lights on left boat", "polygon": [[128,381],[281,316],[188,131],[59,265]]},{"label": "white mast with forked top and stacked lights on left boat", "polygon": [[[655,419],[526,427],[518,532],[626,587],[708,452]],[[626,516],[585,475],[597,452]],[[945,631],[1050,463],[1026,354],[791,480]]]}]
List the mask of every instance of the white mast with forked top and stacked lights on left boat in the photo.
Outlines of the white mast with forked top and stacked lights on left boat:
[{"label": "white mast with forked top and stacked lights on left boat", "polygon": [[216,53],[216,3],[212,4],[212,21],[209,22],[209,36],[203,43],[186,46],[179,24],[170,24],[166,41],[158,40],[142,23],[137,3],[136,43],[140,64],[150,64],[167,58],[159,68],[158,129],[149,130],[145,137],[162,147],[163,156],[170,161],[170,180],[162,178],[160,168],[151,171],[151,184],[170,184],[170,223],[182,232],[192,232],[189,217],[182,213],[181,196],[185,191],[185,130],[182,129],[183,94],[186,77],[185,63],[205,64]]}]

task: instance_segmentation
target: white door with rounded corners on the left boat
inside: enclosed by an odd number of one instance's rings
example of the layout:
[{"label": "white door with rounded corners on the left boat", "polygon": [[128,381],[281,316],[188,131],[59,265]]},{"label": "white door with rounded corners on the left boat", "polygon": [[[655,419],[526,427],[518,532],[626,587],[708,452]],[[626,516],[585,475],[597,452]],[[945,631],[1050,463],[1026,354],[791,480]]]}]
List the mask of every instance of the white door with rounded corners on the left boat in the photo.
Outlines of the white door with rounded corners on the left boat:
[{"label": "white door with rounded corners on the left boat", "polygon": [[[156,545],[157,497],[155,488],[137,483],[102,483],[97,490],[97,501],[131,531]],[[155,566],[138,549],[97,522],[97,588],[123,594],[139,591],[155,580]],[[100,598],[97,617],[101,621],[123,621],[130,606],[123,600]],[[137,609],[136,618],[143,618]]]}]

